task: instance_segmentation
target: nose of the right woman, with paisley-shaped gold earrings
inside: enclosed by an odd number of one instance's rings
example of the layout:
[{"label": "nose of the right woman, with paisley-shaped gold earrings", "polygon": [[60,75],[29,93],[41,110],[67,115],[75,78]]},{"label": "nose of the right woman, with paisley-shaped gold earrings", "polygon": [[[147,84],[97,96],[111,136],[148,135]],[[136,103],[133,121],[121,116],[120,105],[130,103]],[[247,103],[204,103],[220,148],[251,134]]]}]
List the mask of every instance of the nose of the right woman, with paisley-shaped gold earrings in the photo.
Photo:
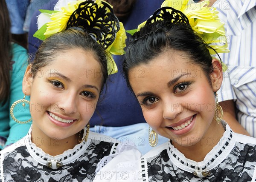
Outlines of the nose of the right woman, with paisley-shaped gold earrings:
[{"label": "nose of the right woman, with paisley-shaped gold earrings", "polygon": [[163,103],[163,118],[175,119],[183,111],[183,107],[180,103],[176,102],[164,102]]}]

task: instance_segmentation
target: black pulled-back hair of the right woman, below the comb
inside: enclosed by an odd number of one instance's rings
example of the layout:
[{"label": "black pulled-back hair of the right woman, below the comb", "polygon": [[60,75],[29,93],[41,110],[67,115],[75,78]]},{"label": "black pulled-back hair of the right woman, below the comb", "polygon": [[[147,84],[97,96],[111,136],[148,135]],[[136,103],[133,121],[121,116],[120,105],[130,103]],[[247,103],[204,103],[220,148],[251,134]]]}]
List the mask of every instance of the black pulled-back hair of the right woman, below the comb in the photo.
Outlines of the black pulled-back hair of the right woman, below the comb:
[{"label": "black pulled-back hair of the right woman, below the comb", "polygon": [[157,21],[145,25],[136,32],[126,48],[123,71],[128,83],[128,72],[137,65],[148,64],[164,51],[172,49],[178,54],[188,57],[199,65],[206,75],[209,84],[212,73],[212,57],[209,47],[186,23],[172,23],[168,20]]}]

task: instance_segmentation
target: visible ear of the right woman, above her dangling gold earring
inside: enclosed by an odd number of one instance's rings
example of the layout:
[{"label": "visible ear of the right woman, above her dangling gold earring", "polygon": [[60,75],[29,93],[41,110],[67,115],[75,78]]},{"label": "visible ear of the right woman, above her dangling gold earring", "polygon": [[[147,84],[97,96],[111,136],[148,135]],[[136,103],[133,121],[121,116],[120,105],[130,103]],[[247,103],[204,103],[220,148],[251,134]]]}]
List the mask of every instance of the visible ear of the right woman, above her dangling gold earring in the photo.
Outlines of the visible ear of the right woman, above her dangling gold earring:
[{"label": "visible ear of the right woman, above her dangling gold earring", "polygon": [[212,59],[212,67],[213,71],[210,74],[211,80],[212,80],[212,89],[213,91],[218,91],[221,87],[221,83],[223,80],[223,72],[222,72],[222,65],[219,60],[216,58]]}]

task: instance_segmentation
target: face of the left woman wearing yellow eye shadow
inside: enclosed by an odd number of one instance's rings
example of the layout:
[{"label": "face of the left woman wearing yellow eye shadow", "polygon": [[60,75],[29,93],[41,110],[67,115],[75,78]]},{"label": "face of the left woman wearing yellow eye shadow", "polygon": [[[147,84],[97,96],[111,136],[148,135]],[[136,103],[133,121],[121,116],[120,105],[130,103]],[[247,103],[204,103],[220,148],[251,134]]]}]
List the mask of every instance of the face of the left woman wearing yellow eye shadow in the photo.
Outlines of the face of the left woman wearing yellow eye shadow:
[{"label": "face of the left woman wearing yellow eye shadow", "polygon": [[32,77],[27,70],[23,92],[30,95],[32,135],[67,139],[92,117],[102,86],[102,71],[90,51],[63,51]]}]

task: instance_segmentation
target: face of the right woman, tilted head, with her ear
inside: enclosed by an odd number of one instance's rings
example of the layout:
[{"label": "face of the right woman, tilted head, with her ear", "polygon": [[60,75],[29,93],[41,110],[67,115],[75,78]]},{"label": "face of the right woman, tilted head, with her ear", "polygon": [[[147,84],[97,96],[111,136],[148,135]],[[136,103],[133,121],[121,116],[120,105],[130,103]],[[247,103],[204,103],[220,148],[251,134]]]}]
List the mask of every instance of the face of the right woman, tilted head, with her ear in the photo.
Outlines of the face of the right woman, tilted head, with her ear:
[{"label": "face of the right woman, tilted head, with her ear", "polygon": [[129,71],[129,81],[151,128],[178,145],[191,146],[211,133],[221,65],[212,61],[216,68],[210,74],[211,87],[200,66],[176,53],[166,51],[136,66]]}]

